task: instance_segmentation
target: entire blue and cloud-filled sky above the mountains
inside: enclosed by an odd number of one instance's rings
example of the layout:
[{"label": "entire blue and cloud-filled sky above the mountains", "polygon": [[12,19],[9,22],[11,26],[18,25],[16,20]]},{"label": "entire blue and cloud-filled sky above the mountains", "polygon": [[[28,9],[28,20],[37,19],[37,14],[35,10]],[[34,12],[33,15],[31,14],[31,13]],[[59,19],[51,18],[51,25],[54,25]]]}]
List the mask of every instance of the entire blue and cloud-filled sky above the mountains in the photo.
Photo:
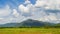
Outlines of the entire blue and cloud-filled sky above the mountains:
[{"label": "entire blue and cloud-filled sky above the mountains", "polygon": [[27,19],[59,23],[59,0],[0,0],[0,24]]}]

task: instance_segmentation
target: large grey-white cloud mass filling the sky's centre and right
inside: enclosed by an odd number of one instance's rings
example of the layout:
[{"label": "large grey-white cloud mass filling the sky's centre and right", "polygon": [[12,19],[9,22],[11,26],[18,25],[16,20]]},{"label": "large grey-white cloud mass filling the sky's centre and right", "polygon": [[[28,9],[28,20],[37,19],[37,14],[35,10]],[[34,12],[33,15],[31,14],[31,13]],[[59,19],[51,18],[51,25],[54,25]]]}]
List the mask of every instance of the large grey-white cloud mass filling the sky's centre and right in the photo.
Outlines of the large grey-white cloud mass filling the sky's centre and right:
[{"label": "large grey-white cloud mass filling the sky's centre and right", "polygon": [[[56,2],[57,1],[57,2]],[[28,14],[28,17],[32,19],[36,19],[39,21],[48,21],[48,22],[54,22],[56,21],[58,23],[58,20],[60,21],[60,18],[58,18],[58,13],[60,13],[59,8],[59,0],[37,0],[35,5],[31,4],[29,1],[27,1],[25,4],[19,5],[19,11],[24,14]],[[55,3],[56,2],[56,3]],[[23,6],[23,9],[22,7]],[[23,11],[21,11],[23,10]],[[48,11],[47,11],[48,10]],[[51,10],[51,12],[49,11]],[[59,10],[59,11],[58,11]],[[57,11],[55,13],[55,11]],[[55,23],[55,22],[54,22]]]}]

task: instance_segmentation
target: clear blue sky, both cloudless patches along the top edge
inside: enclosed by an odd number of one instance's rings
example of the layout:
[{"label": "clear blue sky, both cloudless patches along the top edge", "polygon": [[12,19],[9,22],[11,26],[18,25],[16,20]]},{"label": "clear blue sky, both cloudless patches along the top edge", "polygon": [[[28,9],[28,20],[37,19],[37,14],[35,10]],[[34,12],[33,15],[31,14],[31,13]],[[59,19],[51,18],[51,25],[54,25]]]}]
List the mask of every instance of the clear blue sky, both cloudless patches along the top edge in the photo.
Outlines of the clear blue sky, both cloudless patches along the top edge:
[{"label": "clear blue sky, both cloudless patches along the top edge", "polygon": [[[32,4],[35,4],[36,0],[30,0]],[[9,4],[11,8],[17,7],[19,4],[24,3],[25,0],[0,0],[0,8],[3,8],[6,4]]]}]

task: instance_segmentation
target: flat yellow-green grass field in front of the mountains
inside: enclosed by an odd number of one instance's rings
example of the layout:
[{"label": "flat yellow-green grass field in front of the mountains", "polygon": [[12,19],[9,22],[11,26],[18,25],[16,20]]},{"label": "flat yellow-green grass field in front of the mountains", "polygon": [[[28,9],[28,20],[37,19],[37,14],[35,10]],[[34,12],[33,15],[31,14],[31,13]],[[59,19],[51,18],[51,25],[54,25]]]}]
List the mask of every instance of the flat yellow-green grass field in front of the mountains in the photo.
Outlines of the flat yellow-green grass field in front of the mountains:
[{"label": "flat yellow-green grass field in front of the mountains", "polygon": [[60,28],[3,28],[0,34],[60,34]]}]

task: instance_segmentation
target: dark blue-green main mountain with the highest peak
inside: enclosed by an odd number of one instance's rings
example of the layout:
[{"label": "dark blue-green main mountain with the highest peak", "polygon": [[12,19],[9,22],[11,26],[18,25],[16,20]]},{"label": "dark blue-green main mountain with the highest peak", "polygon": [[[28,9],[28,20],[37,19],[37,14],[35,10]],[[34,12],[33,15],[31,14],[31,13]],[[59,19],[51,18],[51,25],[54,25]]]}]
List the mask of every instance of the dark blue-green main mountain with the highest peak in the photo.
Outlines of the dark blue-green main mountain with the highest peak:
[{"label": "dark blue-green main mountain with the highest peak", "polygon": [[42,21],[31,20],[31,19],[23,21],[22,23],[23,23],[22,26],[26,26],[26,27],[42,27],[42,26],[52,25],[51,23],[48,22],[42,22]]}]

